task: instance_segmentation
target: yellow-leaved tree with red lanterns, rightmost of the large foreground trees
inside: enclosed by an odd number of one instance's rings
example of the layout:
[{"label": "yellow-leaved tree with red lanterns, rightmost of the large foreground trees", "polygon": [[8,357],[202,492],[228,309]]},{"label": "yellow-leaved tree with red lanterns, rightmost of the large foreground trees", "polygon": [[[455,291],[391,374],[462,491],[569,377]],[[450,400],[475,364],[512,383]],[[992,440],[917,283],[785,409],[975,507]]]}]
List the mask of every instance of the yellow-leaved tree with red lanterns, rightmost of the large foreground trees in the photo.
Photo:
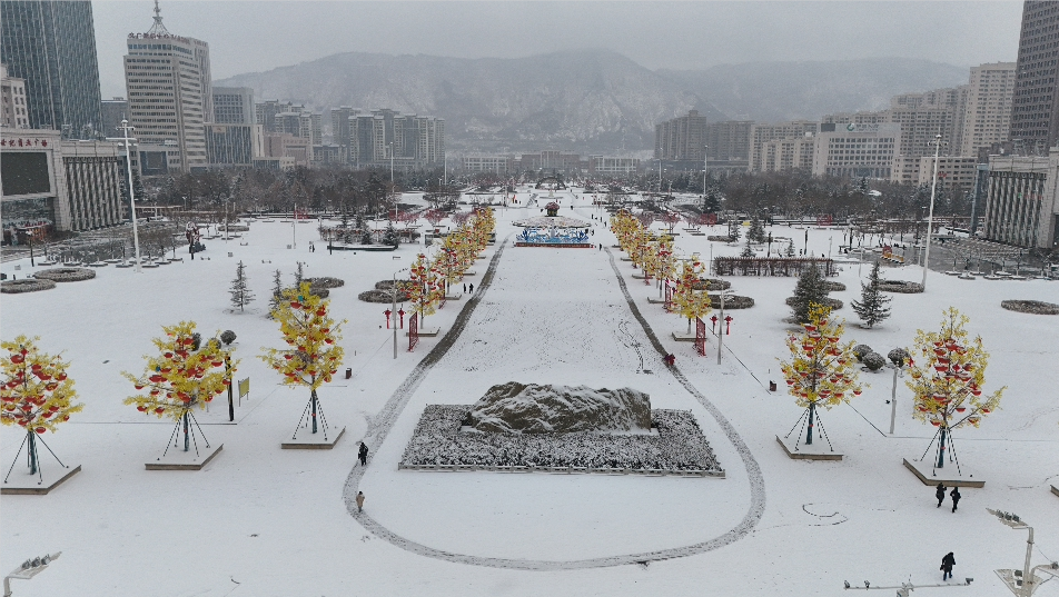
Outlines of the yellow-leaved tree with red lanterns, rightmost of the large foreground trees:
[{"label": "yellow-leaved tree with red lanterns, rightmost of the large foreground trees", "polygon": [[949,460],[956,460],[959,469],[960,462],[952,450],[952,431],[978,427],[983,416],[1000,408],[1000,398],[1007,389],[1000,388],[988,396],[982,391],[989,354],[981,337],[969,338],[963,329],[968,321],[966,315],[950,307],[944,311],[939,331],[917,331],[914,350],[922,355],[922,360],[917,365],[914,359],[909,359],[911,379],[905,385],[914,394],[912,416],[938,428],[923,451],[926,457],[937,440],[934,468],[944,467],[948,451]]}]

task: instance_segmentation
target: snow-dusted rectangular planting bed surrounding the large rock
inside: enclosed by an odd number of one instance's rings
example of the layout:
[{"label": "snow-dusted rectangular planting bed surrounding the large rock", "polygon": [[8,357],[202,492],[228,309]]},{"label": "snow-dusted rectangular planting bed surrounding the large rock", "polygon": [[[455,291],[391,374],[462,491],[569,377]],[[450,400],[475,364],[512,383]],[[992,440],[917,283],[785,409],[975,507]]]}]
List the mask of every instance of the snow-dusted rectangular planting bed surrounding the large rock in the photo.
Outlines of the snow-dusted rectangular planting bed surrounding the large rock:
[{"label": "snow-dusted rectangular planting bed surrounding the large rock", "polygon": [[700,471],[723,469],[690,411],[653,409],[657,434],[499,434],[461,429],[472,405],[427,405],[399,468],[538,467],[563,470]]}]

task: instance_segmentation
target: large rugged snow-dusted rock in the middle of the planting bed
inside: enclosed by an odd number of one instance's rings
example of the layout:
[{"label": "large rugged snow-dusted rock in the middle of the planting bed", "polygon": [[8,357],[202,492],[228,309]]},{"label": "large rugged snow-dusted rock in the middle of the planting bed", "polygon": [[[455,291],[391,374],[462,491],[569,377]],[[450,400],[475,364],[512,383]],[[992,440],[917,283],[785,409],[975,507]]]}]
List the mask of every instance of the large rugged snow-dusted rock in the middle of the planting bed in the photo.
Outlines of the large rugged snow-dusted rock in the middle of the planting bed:
[{"label": "large rugged snow-dusted rock in the middle of the planting bed", "polygon": [[651,398],[630,388],[508,381],[489,388],[464,422],[479,431],[506,434],[650,432]]}]

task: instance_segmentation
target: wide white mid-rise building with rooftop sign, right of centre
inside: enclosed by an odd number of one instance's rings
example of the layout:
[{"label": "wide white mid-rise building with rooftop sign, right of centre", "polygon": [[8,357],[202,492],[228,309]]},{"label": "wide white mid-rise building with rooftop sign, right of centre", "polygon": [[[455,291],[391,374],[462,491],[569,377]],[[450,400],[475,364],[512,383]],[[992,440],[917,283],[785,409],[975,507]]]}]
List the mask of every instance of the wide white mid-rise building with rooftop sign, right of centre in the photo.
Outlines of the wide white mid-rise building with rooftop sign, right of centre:
[{"label": "wide white mid-rise building with rooftop sign, right of centre", "polygon": [[900,141],[898,125],[821,125],[813,176],[889,179]]}]

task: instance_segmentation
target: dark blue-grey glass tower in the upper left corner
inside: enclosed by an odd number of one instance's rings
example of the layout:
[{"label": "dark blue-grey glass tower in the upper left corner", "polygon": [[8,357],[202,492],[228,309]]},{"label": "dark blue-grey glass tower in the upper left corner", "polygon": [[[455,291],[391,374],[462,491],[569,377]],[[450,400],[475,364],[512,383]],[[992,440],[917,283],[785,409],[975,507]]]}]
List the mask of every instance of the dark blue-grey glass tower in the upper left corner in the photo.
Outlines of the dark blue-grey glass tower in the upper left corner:
[{"label": "dark blue-grey glass tower in the upper left corner", "polygon": [[99,128],[92,3],[0,1],[0,61],[26,81],[29,126],[89,139]]}]

